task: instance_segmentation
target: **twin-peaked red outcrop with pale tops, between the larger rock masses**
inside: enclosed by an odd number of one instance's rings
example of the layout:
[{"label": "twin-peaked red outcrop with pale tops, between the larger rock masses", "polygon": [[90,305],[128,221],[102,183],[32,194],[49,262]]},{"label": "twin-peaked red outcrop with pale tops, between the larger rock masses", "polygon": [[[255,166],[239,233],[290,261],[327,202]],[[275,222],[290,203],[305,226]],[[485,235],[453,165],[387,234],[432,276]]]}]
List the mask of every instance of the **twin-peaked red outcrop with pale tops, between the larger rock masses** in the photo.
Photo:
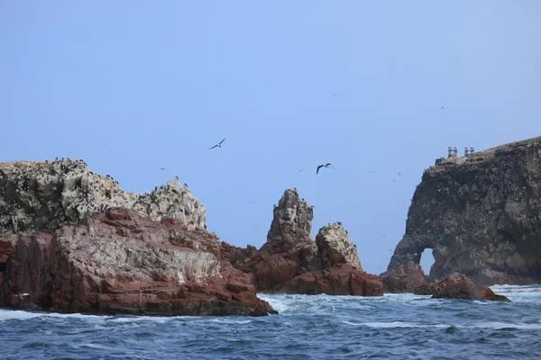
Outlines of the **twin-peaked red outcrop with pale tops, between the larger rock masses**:
[{"label": "twin-peaked red outcrop with pale tops, between the larger rock masses", "polygon": [[344,227],[329,224],[314,241],[310,238],[312,219],[312,208],[297,190],[287,189],[274,208],[267,242],[261,249],[222,243],[226,257],[234,267],[252,273],[262,293],[382,295],[381,280],[362,271]]}]

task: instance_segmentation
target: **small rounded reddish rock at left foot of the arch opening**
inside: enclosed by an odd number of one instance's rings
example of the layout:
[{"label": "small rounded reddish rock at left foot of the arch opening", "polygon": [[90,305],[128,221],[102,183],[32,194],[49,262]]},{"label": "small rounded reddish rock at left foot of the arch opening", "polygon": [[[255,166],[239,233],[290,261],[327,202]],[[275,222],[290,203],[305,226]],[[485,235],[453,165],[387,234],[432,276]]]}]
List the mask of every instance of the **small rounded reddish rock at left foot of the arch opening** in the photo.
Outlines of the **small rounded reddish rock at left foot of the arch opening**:
[{"label": "small rounded reddish rock at left foot of the arch opening", "polygon": [[417,287],[426,284],[425,272],[413,261],[381,274],[380,278],[387,293],[413,293]]}]

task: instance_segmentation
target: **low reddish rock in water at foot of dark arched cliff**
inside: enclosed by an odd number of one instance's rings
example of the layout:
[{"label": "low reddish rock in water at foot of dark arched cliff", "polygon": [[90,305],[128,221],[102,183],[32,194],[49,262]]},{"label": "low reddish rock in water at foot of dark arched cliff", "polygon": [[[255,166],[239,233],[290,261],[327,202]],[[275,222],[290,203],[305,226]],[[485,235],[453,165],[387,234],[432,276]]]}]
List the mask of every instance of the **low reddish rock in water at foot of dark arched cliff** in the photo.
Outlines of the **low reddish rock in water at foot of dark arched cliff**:
[{"label": "low reddish rock in water at foot of dark arched cliff", "polygon": [[466,275],[457,273],[451,274],[445,279],[437,279],[429,284],[419,286],[415,293],[433,295],[434,299],[511,302],[507,297],[492,292],[488,286],[477,286]]}]

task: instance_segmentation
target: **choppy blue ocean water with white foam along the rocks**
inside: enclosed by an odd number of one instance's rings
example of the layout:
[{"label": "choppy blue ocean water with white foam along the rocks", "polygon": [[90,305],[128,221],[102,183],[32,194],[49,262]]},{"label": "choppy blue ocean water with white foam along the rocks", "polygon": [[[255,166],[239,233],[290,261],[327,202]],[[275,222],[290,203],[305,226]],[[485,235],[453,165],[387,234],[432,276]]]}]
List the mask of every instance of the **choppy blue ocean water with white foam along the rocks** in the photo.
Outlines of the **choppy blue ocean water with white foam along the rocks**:
[{"label": "choppy blue ocean water with white foam along the rocks", "polygon": [[541,285],[512,300],[274,294],[280,315],[87,316],[0,310],[4,359],[541,359]]}]

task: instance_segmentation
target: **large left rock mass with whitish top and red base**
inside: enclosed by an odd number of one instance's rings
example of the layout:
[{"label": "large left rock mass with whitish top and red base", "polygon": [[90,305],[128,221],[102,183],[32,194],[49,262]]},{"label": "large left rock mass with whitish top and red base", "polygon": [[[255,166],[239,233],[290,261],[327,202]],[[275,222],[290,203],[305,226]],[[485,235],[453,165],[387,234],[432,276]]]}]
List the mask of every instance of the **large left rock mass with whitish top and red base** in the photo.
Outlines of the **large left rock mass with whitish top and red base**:
[{"label": "large left rock mass with whitish top and red base", "polygon": [[82,160],[0,164],[0,306],[149,315],[266,315],[205,209],[177,180],[124,193]]}]

